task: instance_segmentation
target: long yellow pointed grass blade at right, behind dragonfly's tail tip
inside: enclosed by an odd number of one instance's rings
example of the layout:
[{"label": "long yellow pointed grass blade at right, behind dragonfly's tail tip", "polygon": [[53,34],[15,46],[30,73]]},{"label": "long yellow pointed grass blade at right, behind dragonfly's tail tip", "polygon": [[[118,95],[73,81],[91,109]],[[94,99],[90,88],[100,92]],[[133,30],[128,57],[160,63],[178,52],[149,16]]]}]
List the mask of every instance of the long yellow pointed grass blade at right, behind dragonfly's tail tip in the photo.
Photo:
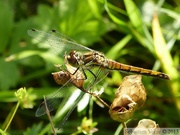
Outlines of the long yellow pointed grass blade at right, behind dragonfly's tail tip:
[{"label": "long yellow pointed grass blade at right, behind dragonfly's tail tip", "polygon": [[152,22],[152,30],[153,30],[153,37],[154,37],[154,48],[156,56],[158,57],[159,61],[161,62],[162,68],[165,72],[167,72],[171,79],[171,91],[175,98],[175,104],[177,110],[180,110],[180,98],[179,98],[179,75],[176,67],[174,66],[172,56],[167,48],[166,41],[163,37],[161,32],[161,27],[159,24],[159,19],[157,14],[154,15],[153,22]]}]

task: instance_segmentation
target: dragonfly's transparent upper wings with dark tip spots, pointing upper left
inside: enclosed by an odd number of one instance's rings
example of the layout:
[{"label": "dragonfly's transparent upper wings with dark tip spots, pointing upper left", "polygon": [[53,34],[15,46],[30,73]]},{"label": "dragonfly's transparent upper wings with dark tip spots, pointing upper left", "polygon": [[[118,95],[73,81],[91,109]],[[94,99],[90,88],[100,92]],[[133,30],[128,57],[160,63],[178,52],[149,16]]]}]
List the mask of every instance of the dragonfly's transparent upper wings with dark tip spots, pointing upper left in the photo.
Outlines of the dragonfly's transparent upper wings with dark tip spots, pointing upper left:
[{"label": "dragonfly's transparent upper wings with dark tip spots, pointing upper left", "polygon": [[58,33],[55,30],[43,32],[40,30],[31,29],[28,30],[27,33],[38,41],[47,40],[48,44],[61,56],[64,56],[65,52],[69,54],[69,52],[72,50],[78,50],[81,52],[93,51],[88,47],[74,42],[67,36],[63,35],[62,33]]}]

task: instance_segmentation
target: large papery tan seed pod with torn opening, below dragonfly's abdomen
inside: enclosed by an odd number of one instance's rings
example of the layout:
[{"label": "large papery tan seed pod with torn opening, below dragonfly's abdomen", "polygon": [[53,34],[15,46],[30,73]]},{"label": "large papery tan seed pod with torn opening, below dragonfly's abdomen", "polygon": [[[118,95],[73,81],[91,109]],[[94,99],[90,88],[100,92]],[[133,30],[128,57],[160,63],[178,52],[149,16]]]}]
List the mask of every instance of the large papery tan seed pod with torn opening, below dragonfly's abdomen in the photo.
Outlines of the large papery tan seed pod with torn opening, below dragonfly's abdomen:
[{"label": "large papery tan seed pod with torn opening, below dragonfly's abdomen", "polygon": [[144,104],[146,91],[141,79],[141,75],[124,77],[109,109],[109,114],[113,120],[119,122],[127,121],[132,117],[135,110]]}]

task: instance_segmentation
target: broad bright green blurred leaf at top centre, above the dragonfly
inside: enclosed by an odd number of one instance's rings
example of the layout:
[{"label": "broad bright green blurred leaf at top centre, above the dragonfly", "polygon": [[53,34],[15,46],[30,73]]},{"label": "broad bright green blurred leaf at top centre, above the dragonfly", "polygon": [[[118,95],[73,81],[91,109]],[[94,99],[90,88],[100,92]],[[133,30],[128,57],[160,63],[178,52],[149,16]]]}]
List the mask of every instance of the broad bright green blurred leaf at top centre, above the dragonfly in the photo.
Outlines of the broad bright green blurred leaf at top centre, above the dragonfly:
[{"label": "broad bright green blurred leaf at top centre, above the dragonfly", "polygon": [[[96,11],[93,12],[94,8]],[[112,28],[108,21],[97,18],[103,11],[102,6],[97,2],[67,0],[60,2],[57,9],[60,31],[82,44],[97,41]]]}]

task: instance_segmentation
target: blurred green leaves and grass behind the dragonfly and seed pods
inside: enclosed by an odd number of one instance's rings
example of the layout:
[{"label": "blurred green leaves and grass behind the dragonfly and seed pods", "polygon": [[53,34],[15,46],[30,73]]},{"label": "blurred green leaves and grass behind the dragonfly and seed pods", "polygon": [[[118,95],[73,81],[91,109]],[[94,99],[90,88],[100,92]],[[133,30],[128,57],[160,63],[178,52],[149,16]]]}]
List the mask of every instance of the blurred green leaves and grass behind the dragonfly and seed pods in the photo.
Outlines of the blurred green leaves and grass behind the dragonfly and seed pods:
[{"label": "blurred green leaves and grass behind the dragonfly and seed pods", "polygon": [[[171,80],[143,77],[147,101],[134,114],[128,127],[139,120],[155,120],[160,127],[180,125],[180,2],[178,0],[1,0],[0,1],[0,127],[1,133],[51,134],[46,116],[35,117],[43,95],[58,86],[51,73],[63,58],[50,53],[50,46],[35,43],[27,30],[56,29],[108,58],[138,67],[162,71]],[[102,98],[111,103],[123,76],[111,74],[103,81]],[[25,100],[15,92],[26,87]],[[17,94],[16,94],[17,95]],[[89,100],[87,98],[87,100]],[[20,107],[17,109],[17,104]],[[15,112],[10,122],[10,116]],[[107,108],[96,103],[69,117],[62,134],[77,132],[84,116],[97,122],[94,134],[118,134],[121,123],[113,121]],[[55,113],[55,112],[54,112]],[[56,121],[59,121],[57,119]],[[7,123],[10,126],[7,130]]]}]

